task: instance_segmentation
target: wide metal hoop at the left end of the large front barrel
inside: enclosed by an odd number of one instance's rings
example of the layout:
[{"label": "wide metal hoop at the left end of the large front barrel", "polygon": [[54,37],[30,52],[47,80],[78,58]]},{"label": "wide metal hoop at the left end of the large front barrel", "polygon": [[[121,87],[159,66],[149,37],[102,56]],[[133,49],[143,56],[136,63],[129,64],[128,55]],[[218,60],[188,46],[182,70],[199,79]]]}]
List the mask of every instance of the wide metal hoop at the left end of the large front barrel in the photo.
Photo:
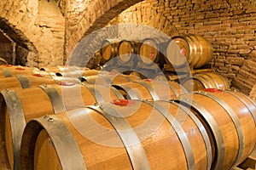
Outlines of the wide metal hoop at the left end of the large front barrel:
[{"label": "wide metal hoop at the left end of the large front barrel", "polygon": [[[35,119],[49,135],[54,144],[62,169],[86,170],[84,157],[79,145],[67,125],[57,116],[43,116]],[[67,154],[68,153],[68,154]]]}]

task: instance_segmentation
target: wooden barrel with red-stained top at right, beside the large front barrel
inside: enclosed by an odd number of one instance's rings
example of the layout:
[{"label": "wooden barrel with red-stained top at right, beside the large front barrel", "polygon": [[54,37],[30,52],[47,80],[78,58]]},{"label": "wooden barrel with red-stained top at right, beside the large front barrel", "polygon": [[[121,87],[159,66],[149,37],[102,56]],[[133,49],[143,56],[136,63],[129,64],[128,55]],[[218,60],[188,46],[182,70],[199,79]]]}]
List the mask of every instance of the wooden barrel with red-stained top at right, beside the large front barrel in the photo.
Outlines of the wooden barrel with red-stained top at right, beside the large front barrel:
[{"label": "wooden barrel with red-stained top at right, beside the large front barrel", "polygon": [[246,95],[206,88],[181,95],[177,103],[189,107],[207,128],[215,150],[211,169],[230,169],[253,151],[256,105]]}]

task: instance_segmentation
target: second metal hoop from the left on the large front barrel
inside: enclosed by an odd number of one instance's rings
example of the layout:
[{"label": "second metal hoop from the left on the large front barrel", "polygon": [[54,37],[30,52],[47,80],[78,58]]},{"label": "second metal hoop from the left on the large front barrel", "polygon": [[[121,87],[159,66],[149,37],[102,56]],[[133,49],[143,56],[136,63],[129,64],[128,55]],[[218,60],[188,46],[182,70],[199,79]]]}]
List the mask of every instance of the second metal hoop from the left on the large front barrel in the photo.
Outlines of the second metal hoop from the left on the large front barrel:
[{"label": "second metal hoop from the left on the large front barrel", "polygon": [[141,144],[140,139],[138,139],[137,133],[134,132],[125,118],[121,116],[118,111],[115,111],[112,107],[107,105],[90,106],[90,108],[102,114],[102,116],[112,124],[125,145],[125,150],[130,157],[133,169],[149,170],[148,158],[143,149],[143,145]]}]

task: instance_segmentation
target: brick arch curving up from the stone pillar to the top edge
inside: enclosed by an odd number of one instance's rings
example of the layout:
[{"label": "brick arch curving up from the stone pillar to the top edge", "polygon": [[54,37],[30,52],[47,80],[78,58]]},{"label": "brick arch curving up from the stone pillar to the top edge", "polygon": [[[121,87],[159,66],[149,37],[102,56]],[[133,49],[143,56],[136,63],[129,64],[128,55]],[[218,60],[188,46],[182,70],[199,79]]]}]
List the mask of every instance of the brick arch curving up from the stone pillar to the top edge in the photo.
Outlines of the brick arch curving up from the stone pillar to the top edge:
[{"label": "brick arch curving up from the stone pillar to the top edge", "polygon": [[[141,1],[143,0],[95,0],[87,1],[81,6],[77,3],[76,7],[69,1],[66,17],[66,58],[83,37],[106,26],[110,20],[126,8]],[[80,8],[77,8],[78,6]]]}]

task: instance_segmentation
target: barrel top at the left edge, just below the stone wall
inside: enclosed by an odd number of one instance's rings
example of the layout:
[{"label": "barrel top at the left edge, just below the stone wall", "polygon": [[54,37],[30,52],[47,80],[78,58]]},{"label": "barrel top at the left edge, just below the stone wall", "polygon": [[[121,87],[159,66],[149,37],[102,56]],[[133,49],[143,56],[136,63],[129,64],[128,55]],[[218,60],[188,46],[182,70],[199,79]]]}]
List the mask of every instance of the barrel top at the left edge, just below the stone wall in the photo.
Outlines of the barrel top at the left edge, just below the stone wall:
[{"label": "barrel top at the left edge, just below the stone wall", "polygon": [[40,72],[36,67],[26,67],[20,65],[1,65],[0,67],[0,78],[14,77],[17,75],[32,75],[38,73],[43,74],[43,72]]}]

